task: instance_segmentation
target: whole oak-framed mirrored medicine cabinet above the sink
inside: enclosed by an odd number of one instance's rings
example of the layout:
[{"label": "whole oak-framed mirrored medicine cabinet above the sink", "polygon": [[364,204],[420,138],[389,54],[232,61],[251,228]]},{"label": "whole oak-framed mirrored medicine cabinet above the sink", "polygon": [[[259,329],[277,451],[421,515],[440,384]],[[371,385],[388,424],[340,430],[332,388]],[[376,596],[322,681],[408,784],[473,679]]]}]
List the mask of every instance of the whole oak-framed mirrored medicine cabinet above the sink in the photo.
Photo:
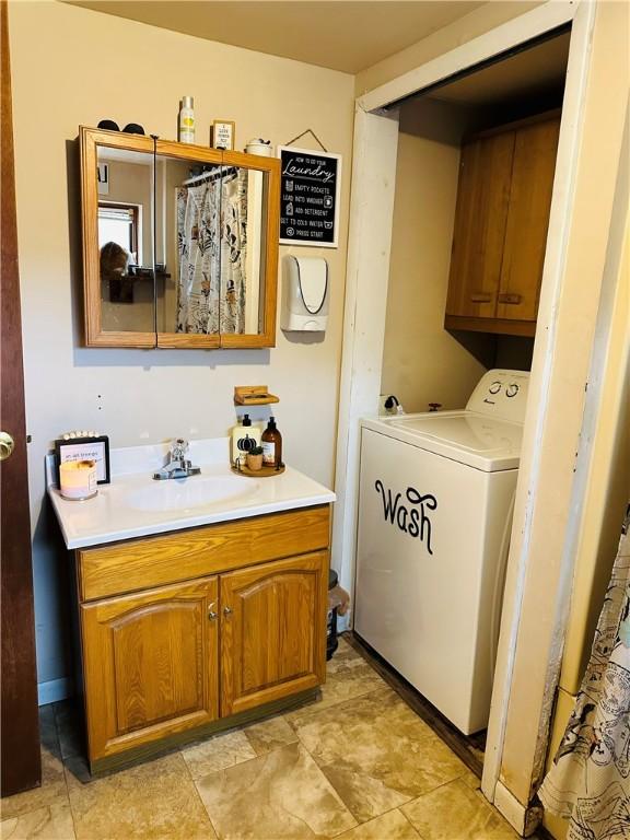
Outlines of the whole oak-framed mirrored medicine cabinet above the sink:
[{"label": "whole oak-framed mirrored medicine cabinet above the sink", "polygon": [[85,343],[276,340],[280,162],[81,129]]}]

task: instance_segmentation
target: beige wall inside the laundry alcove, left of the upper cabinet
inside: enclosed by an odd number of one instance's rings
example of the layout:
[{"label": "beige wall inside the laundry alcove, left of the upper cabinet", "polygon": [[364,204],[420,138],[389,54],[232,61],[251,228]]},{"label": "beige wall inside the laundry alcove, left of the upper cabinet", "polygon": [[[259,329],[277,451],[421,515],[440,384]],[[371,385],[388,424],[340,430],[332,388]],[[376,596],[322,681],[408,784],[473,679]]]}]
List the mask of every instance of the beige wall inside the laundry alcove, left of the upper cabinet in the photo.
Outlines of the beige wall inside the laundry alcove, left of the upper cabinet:
[{"label": "beige wall inside the laundry alcove, left of the upper cabinet", "polygon": [[[444,329],[460,141],[471,119],[431,100],[400,113],[381,390],[408,412],[429,402],[460,408],[487,370]],[[467,340],[489,364],[492,338]]]}]

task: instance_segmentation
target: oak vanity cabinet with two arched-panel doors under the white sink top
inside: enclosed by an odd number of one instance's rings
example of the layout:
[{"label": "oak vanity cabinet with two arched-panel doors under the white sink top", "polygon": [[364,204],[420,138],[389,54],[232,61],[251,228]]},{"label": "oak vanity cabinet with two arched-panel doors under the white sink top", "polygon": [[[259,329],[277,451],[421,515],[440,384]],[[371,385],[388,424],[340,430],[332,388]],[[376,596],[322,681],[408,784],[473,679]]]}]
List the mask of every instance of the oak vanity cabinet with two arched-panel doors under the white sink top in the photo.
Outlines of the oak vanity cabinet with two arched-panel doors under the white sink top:
[{"label": "oak vanity cabinet with two arched-panel doors under the white sink top", "polygon": [[78,550],[92,769],[316,689],[328,534],[320,505]]}]

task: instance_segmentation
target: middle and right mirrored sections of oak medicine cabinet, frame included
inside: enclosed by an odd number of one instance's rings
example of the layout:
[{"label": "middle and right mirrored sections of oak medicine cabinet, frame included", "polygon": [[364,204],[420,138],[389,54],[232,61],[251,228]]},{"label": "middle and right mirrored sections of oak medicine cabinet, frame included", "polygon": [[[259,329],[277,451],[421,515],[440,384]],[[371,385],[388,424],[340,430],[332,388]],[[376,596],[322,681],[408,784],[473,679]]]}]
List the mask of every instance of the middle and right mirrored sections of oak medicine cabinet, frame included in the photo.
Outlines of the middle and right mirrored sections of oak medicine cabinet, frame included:
[{"label": "middle and right mirrored sections of oak medicine cabinet, frame included", "polygon": [[280,161],[158,140],[155,173],[158,347],[272,347]]}]

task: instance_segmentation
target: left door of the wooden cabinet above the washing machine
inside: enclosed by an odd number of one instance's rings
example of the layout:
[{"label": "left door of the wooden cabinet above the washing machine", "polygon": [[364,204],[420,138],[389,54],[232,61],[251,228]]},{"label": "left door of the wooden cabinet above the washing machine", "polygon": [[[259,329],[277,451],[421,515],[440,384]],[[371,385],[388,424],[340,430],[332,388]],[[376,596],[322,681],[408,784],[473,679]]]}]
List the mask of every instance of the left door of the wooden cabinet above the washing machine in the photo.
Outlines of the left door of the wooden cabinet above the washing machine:
[{"label": "left door of the wooden cabinet above the washing machine", "polygon": [[447,315],[494,317],[513,151],[513,131],[462,149]]}]

